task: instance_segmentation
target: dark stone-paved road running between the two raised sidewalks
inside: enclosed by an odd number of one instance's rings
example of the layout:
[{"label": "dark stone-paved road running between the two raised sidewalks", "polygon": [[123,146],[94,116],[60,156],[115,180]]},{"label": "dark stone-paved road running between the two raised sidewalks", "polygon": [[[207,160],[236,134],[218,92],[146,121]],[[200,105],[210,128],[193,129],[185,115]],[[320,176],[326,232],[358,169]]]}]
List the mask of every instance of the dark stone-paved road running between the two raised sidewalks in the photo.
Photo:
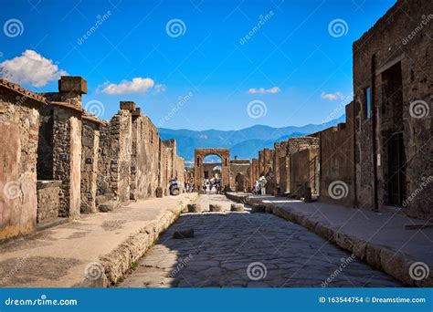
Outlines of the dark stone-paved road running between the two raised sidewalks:
[{"label": "dark stone-paved road running between the two raised sidewalks", "polygon": [[[197,203],[221,204],[223,195]],[[193,227],[194,238],[173,239]],[[320,236],[269,213],[185,213],[120,287],[402,286]]]}]

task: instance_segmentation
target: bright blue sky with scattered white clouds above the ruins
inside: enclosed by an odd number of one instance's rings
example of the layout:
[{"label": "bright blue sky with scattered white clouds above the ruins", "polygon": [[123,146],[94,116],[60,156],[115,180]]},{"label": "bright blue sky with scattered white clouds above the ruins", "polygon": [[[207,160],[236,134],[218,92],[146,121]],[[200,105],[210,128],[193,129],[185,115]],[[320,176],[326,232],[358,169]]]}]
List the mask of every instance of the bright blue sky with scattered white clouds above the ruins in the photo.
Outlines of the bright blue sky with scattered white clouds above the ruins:
[{"label": "bright blue sky with scattered white clouds above the ruins", "polygon": [[6,0],[0,63],[34,91],[86,78],[102,119],[134,100],[172,129],[322,123],[350,101],[353,41],[395,2]]}]

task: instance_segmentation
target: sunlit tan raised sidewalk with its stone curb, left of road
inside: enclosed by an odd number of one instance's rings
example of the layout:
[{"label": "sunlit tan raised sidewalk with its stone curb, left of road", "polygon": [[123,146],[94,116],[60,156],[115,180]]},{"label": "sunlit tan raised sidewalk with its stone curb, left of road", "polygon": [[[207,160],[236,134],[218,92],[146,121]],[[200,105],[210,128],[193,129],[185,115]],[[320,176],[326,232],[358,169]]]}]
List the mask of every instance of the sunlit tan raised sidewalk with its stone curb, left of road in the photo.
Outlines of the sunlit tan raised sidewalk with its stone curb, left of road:
[{"label": "sunlit tan raised sidewalk with its stone curb, left of road", "polygon": [[0,286],[110,286],[174,223],[196,193],[130,203],[81,215],[0,244]]}]

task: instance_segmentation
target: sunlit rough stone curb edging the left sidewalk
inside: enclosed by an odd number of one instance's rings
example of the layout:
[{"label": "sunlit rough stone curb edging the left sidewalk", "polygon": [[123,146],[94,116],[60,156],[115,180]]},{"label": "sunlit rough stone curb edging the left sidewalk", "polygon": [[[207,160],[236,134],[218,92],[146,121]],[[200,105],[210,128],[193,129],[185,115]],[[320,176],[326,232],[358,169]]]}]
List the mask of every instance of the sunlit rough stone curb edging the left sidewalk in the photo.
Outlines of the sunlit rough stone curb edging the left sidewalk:
[{"label": "sunlit rough stone curb edging the left sidewalk", "polygon": [[92,287],[110,287],[115,285],[121,277],[131,268],[132,263],[142,257],[153,246],[171,224],[177,220],[188,203],[193,203],[196,196],[187,201],[181,201],[179,205],[162,214],[157,220],[146,224],[141,230],[130,234],[130,237],[118,245],[108,255],[100,256],[100,264],[104,268],[104,274],[96,281],[86,281],[85,285]]}]

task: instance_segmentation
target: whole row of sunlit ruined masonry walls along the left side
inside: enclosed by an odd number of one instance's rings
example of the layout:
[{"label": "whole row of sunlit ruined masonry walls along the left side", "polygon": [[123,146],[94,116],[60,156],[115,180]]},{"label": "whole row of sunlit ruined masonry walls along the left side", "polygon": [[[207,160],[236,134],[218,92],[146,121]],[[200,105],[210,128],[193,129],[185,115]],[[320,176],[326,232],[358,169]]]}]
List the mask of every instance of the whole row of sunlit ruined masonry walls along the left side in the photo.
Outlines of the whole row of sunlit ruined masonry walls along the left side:
[{"label": "whole row of sunlit ruined masonry walls along the left side", "polygon": [[0,79],[0,241],[110,211],[184,186],[175,140],[163,141],[133,102],[110,121],[82,109],[87,82],[62,77],[58,92],[33,93]]}]

